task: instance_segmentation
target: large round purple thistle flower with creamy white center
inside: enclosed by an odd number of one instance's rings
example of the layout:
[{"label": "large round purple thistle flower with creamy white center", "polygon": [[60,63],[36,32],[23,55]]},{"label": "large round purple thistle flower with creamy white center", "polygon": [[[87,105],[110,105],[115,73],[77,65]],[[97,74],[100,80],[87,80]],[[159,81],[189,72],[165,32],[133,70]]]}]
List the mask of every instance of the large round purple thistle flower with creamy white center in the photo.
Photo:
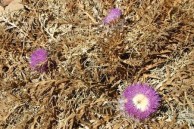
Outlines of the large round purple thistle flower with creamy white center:
[{"label": "large round purple thistle flower with creamy white center", "polygon": [[136,83],[128,86],[123,93],[124,110],[139,120],[149,117],[159,106],[158,93],[147,84]]}]

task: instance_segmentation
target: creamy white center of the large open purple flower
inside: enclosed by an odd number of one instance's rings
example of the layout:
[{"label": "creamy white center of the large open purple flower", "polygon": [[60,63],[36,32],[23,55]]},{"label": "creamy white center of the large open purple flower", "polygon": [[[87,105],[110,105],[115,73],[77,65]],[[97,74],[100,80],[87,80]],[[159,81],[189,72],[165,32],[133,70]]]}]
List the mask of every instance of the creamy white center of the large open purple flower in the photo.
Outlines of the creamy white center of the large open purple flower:
[{"label": "creamy white center of the large open purple flower", "polygon": [[148,98],[145,95],[137,94],[133,98],[133,103],[134,103],[134,105],[136,106],[137,109],[139,109],[142,112],[144,112],[145,110],[148,109],[149,100],[148,100]]}]

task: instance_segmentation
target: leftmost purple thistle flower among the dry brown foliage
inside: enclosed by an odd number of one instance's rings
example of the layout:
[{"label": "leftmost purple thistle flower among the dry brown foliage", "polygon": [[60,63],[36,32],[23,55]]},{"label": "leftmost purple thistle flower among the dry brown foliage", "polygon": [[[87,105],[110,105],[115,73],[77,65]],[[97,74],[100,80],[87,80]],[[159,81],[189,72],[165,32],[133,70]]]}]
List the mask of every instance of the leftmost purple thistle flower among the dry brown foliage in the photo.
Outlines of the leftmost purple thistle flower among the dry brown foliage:
[{"label": "leftmost purple thistle flower among the dry brown foliage", "polygon": [[32,52],[30,56],[30,66],[32,69],[39,72],[44,72],[47,69],[47,51],[39,48]]}]

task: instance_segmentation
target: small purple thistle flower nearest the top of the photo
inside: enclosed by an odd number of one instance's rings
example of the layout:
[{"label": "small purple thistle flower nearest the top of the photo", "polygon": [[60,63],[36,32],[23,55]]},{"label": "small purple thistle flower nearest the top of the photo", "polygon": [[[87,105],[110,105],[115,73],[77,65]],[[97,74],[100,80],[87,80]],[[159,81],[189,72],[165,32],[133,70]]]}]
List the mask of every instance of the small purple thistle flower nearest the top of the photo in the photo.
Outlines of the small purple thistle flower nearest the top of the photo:
[{"label": "small purple thistle flower nearest the top of the photo", "polygon": [[104,18],[104,23],[105,24],[109,24],[113,21],[115,21],[116,19],[118,19],[121,16],[121,10],[118,8],[113,8],[111,10],[109,10],[108,15]]}]

